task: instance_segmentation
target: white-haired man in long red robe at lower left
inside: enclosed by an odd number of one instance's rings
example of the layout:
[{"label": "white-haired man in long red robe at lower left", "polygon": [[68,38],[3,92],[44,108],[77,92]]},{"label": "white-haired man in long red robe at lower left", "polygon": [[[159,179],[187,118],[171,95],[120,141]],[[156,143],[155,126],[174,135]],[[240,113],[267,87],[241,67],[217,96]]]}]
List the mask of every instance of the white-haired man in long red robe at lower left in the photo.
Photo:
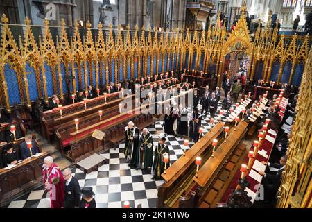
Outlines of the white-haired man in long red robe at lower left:
[{"label": "white-haired man in long red robe at lower left", "polygon": [[53,162],[53,157],[44,158],[42,175],[44,188],[50,192],[51,208],[64,207],[64,177],[58,166]]}]

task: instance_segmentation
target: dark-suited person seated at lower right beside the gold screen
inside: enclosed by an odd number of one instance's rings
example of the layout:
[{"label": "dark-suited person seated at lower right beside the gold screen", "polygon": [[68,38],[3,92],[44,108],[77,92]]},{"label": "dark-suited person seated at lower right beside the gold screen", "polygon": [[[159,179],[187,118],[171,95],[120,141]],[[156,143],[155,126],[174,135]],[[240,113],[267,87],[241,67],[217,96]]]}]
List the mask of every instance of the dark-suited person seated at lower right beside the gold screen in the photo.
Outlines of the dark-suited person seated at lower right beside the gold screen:
[{"label": "dark-suited person seated at lower right beside the gold screen", "polygon": [[263,186],[264,186],[264,192],[265,192],[265,198],[272,198],[277,192],[277,189],[279,189],[279,185],[281,183],[281,174],[284,171],[285,165],[287,161],[287,156],[284,155],[279,160],[279,164],[277,163],[266,163],[262,162],[262,164],[267,164],[269,167],[273,167],[278,169],[276,172],[272,173],[264,173],[263,171],[259,171],[259,174],[263,176]]}]

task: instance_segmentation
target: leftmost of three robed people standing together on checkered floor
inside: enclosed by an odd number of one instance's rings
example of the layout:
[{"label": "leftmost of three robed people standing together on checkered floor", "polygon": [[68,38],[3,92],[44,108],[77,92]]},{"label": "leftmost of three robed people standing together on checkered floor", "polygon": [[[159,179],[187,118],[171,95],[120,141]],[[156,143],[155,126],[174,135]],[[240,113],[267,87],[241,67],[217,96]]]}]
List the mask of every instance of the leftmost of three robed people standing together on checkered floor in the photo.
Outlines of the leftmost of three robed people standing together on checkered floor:
[{"label": "leftmost of three robed people standing together on checkered floor", "polygon": [[[139,158],[139,129],[135,126],[135,123],[130,121],[128,126],[125,127],[125,159],[131,164],[137,163],[137,158]],[[132,158],[132,155],[135,157]]]}]

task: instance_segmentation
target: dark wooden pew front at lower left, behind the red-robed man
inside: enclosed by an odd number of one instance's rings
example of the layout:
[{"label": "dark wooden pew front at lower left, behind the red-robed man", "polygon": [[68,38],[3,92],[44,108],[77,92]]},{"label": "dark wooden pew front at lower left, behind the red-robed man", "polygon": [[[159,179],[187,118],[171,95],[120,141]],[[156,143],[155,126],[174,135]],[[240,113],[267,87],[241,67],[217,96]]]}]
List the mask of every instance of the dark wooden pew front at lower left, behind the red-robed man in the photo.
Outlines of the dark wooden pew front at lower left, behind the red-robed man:
[{"label": "dark wooden pew front at lower left, behind the red-robed man", "polygon": [[42,153],[39,157],[24,160],[12,169],[0,169],[0,206],[43,185],[42,164],[47,155]]}]

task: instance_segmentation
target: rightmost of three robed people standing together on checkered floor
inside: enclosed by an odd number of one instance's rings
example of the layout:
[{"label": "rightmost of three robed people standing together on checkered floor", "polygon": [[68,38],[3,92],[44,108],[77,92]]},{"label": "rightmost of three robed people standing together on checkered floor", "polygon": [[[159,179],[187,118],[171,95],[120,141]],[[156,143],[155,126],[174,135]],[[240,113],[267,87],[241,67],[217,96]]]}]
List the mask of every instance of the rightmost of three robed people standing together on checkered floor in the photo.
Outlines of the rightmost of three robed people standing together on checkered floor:
[{"label": "rightmost of three robed people standing together on checkered floor", "polygon": [[152,168],[153,178],[155,180],[162,180],[162,173],[164,173],[164,155],[169,156],[169,163],[167,167],[170,166],[170,155],[169,148],[166,145],[166,138],[164,135],[160,135],[160,139],[158,141],[157,147],[155,149],[154,162]]}]

